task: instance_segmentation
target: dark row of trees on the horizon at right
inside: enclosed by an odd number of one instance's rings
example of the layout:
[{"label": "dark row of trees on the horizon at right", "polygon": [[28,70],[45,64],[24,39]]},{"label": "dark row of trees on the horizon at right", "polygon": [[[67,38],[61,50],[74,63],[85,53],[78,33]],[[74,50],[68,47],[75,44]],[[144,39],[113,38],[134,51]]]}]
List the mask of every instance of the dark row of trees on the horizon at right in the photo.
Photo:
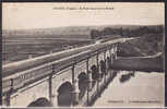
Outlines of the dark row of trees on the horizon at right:
[{"label": "dark row of trees on the horizon at right", "polygon": [[103,31],[98,29],[92,29],[91,31],[91,38],[92,39],[102,39],[107,35],[120,35],[122,37],[141,37],[145,34],[163,34],[164,27],[163,25],[159,26],[140,26],[136,29],[130,29],[130,28],[111,28],[111,27],[105,27]]}]

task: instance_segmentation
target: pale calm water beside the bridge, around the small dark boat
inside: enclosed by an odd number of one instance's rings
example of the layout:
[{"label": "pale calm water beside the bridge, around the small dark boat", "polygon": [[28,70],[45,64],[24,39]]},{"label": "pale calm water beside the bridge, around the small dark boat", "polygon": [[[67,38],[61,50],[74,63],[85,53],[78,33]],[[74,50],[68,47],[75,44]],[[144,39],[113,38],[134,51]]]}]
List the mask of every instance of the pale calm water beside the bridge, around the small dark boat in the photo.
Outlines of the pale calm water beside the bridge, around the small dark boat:
[{"label": "pale calm water beside the bridge, around the small dark boat", "polygon": [[163,107],[165,104],[165,73],[135,72],[121,83],[121,71],[108,85],[94,107]]}]

